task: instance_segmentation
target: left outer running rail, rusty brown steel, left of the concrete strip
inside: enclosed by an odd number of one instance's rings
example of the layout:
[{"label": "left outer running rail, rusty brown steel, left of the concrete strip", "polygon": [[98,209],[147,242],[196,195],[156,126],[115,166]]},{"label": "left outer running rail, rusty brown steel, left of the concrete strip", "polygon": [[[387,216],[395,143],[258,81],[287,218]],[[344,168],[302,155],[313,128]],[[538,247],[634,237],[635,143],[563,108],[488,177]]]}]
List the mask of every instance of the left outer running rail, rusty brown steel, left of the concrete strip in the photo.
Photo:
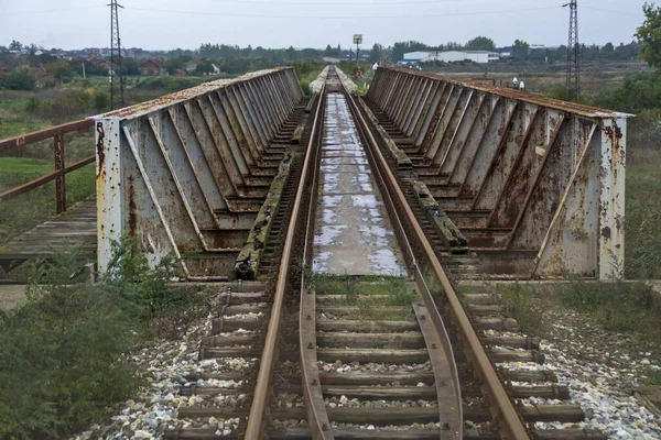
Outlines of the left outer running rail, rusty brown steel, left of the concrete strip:
[{"label": "left outer running rail, rusty brown steel, left of the concrete strip", "polygon": [[301,178],[299,180],[299,188],[296,190],[296,198],[292,209],[292,215],[288,226],[286,238],[284,248],[282,251],[282,260],[280,262],[280,271],[278,273],[278,284],[275,286],[275,293],[273,295],[273,306],[271,307],[271,318],[269,320],[269,327],[267,337],[264,340],[264,348],[260,359],[259,373],[257,376],[257,384],[254,386],[254,395],[252,397],[252,404],[250,405],[250,414],[248,416],[248,426],[246,428],[247,440],[259,439],[262,436],[262,419],[264,409],[267,407],[267,400],[269,398],[271,373],[275,361],[275,352],[278,348],[278,337],[280,334],[280,322],[282,320],[282,310],[284,304],[284,296],[286,293],[286,285],[290,272],[290,260],[292,256],[292,250],[294,244],[294,238],[296,235],[296,224],[299,222],[299,216],[301,212],[301,205],[303,204],[303,197],[310,188],[306,188],[303,183],[305,177],[310,173],[312,162],[312,148],[314,143],[314,134],[319,127],[319,116],[322,114],[322,102],[319,99],[317,109],[312,125],[312,135],[305,151],[305,160],[303,163],[303,169],[301,172]]}]

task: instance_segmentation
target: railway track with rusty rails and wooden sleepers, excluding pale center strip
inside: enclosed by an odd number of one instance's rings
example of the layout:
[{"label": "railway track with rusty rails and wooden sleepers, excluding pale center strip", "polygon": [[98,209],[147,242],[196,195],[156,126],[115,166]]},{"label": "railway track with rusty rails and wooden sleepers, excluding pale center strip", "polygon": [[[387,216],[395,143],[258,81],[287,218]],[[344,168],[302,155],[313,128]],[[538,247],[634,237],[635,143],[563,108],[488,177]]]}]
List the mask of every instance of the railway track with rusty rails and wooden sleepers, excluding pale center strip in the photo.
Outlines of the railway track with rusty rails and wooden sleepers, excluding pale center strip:
[{"label": "railway track with rusty rails and wooden sleepers, excluding pale center strip", "polygon": [[[460,233],[440,227],[442,210],[430,208],[414,168],[388,155],[359,99],[328,73],[270,232],[267,275],[223,296],[199,356],[218,371],[191,377],[183,393],[194,405],[178,410],[180,419],[202,421],[167,437],[604,438],[570,425],[535,425],[584,415],[563,405],[568,392],[551,373],[508,369],[543,363],[540,341],[512,333],[516,322],[492,296],[458,294],[455,278],[478,278],[479,261]],[[350,118],[329,116],[337,111]],[[371,176],[361,184],[376,187],[408,276],[313,271],[329,130],[359,140],[349,163]],[[252,374],[234,372],[234,362]]]}]

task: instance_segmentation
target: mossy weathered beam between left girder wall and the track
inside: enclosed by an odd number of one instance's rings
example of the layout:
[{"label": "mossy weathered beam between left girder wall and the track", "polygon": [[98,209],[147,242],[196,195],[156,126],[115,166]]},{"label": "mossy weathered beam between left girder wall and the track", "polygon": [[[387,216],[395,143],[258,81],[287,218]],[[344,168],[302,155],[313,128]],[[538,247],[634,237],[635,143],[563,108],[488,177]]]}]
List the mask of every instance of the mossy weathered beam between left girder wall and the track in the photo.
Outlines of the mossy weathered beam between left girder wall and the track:
[{"label": "mossy weathered beam between left girder wall and the track", "polygon": [[259,271],[262,252],[267,246],[267,239],[271,231],[275,212],[278,212],[278,206],[280,205],[282,190],[290,175],[291,165],[292,156],[285,153],[278,168],[278,174],[271,183],[267,199],[257,213],[250,234],[248,234],[248,240],[243,248],[241,248],[239,256],[237,256],[235,272],[237,277],[241,279],[253,279]]}]

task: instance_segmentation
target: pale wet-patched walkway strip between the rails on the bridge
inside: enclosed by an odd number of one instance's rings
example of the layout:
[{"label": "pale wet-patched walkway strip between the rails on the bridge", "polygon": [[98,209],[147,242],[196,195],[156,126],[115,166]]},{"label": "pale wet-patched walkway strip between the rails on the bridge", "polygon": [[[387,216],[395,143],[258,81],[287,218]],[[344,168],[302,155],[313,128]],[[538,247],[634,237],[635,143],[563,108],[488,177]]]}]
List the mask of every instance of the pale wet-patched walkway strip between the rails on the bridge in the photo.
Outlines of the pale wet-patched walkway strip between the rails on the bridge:
[{"label": "pale wet-patched walkway strip between the rails on the bridge", "polygon": [[330,275],[405,275],[348,103],[330,94],[322,151],[314,271]]}]

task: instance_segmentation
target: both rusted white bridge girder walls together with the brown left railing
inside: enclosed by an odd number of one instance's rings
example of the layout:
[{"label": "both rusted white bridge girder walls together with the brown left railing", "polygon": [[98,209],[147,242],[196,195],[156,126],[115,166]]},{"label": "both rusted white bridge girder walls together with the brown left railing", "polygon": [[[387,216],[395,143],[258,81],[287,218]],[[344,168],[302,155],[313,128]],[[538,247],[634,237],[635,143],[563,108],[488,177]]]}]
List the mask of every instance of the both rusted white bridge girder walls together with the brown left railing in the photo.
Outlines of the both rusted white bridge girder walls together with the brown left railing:
[{"label": "both rusted white bridge girder walls together with the brown left railing", "polygon": [[[58,228],[94,254],[89,202],[65,212],[64,185],[93,158],[65,166],[58,153],[64,133],[94,125],[99,272],[126,231],[151,264],[174,254],[188,279],[227,279],[271,184],[289,172],[281,162],[306,102],[293,69],[279,68],[0,141],[8,151],[55,140],[56,170],[0,202],[56,180],[63,213],[1,248],[0,264],[10,271],[48,256]],[[621,273],[628,114],[400,68],[379,68],[361,106],[376,116],[397,165],[411,169],[460,230],[484,274]]]}]

